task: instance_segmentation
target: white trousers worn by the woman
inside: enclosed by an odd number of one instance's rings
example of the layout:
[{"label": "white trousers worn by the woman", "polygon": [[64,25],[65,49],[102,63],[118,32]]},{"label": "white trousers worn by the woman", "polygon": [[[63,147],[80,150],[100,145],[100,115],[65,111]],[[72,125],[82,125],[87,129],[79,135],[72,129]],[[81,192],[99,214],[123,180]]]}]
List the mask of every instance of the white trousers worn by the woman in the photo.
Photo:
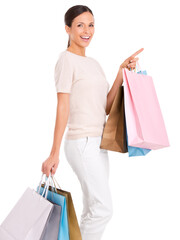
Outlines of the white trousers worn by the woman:
[{"label": "white trousers worn by the woman", "polygon": [[65,139],[66,159],[82,188],[83,211],[80,221],[82,240],[100,240],[113,215],[109,188],[108,151],[101,149],[102,136]]}]

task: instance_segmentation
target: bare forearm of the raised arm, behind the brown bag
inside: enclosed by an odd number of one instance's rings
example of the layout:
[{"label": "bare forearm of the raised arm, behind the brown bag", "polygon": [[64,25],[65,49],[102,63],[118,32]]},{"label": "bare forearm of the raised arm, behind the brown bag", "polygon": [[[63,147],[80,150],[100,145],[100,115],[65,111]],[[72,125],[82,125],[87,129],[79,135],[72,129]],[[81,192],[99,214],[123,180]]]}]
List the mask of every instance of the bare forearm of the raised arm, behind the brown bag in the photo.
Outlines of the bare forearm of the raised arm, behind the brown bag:
[{"label": "bare forearm of the raised arm, behind the brown bag", "polygon": [[116,93],[119,89],[119,87],[123,83],[123,77],[122,77],[122,69],[119,70],[117,73],[116,79],[107,95],[107,104],[106,104],[106,115],[110,113],[114,98],[116,96]]}]

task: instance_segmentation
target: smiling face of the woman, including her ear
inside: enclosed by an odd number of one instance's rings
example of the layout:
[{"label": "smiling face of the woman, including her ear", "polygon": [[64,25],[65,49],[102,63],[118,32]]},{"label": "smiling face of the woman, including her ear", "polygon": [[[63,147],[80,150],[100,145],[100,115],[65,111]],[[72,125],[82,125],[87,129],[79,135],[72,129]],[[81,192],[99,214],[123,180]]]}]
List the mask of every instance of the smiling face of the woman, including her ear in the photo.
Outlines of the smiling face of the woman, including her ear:
[{"label": "smiling face of the woman, including her ear", "polygon": [[84,12],[74,18],[71,28],[65,26],[70,37],[70,45],[87,47],[94,35],[94,17],[90,12]]}]

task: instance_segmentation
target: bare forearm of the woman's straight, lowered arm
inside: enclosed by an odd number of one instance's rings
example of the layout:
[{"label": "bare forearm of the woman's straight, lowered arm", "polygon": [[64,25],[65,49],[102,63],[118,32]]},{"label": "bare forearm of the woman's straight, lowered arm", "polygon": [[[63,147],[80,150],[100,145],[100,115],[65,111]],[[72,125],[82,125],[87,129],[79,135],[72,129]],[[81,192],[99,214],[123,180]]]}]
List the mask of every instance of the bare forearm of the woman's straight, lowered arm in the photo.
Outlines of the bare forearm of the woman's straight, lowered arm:
[{"label": "bare forearm of the woman's straight, lowered arm", "polygon": [[54,140],[50,155],[59,155],[62,137],[67,125],[69,109],[64,105],[57,105]]}]

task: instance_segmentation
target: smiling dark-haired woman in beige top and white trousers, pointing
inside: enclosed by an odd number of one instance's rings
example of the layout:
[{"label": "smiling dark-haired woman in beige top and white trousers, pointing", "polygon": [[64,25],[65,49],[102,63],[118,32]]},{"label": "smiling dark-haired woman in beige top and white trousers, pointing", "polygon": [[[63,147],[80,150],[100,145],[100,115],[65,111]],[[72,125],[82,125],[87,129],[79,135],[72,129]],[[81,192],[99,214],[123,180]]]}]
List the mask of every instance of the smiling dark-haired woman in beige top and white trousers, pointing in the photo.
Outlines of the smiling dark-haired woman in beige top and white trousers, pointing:
[{"label": "smiling dark-haired woman in beige top and white trousers, pointing", "polygon": [[84,5],[71,7],[65,14],[65,30],[69,35],[68,46],[59,55],[54,75],[58,100],[54,141],[50,156],[42,164],[42,172],[47,177],[50,172],[55,174],[68,125],[64,150],[83,192],[82,240],[99,240],[113,213],[108,151],[99,147],[103,128],[123,83],[122,68],[134,69],[138,60],[135,56],[143,49],[120,65],[109,91],[98,61],[85,56],[85,48],[94,35],[92,11]]}]

